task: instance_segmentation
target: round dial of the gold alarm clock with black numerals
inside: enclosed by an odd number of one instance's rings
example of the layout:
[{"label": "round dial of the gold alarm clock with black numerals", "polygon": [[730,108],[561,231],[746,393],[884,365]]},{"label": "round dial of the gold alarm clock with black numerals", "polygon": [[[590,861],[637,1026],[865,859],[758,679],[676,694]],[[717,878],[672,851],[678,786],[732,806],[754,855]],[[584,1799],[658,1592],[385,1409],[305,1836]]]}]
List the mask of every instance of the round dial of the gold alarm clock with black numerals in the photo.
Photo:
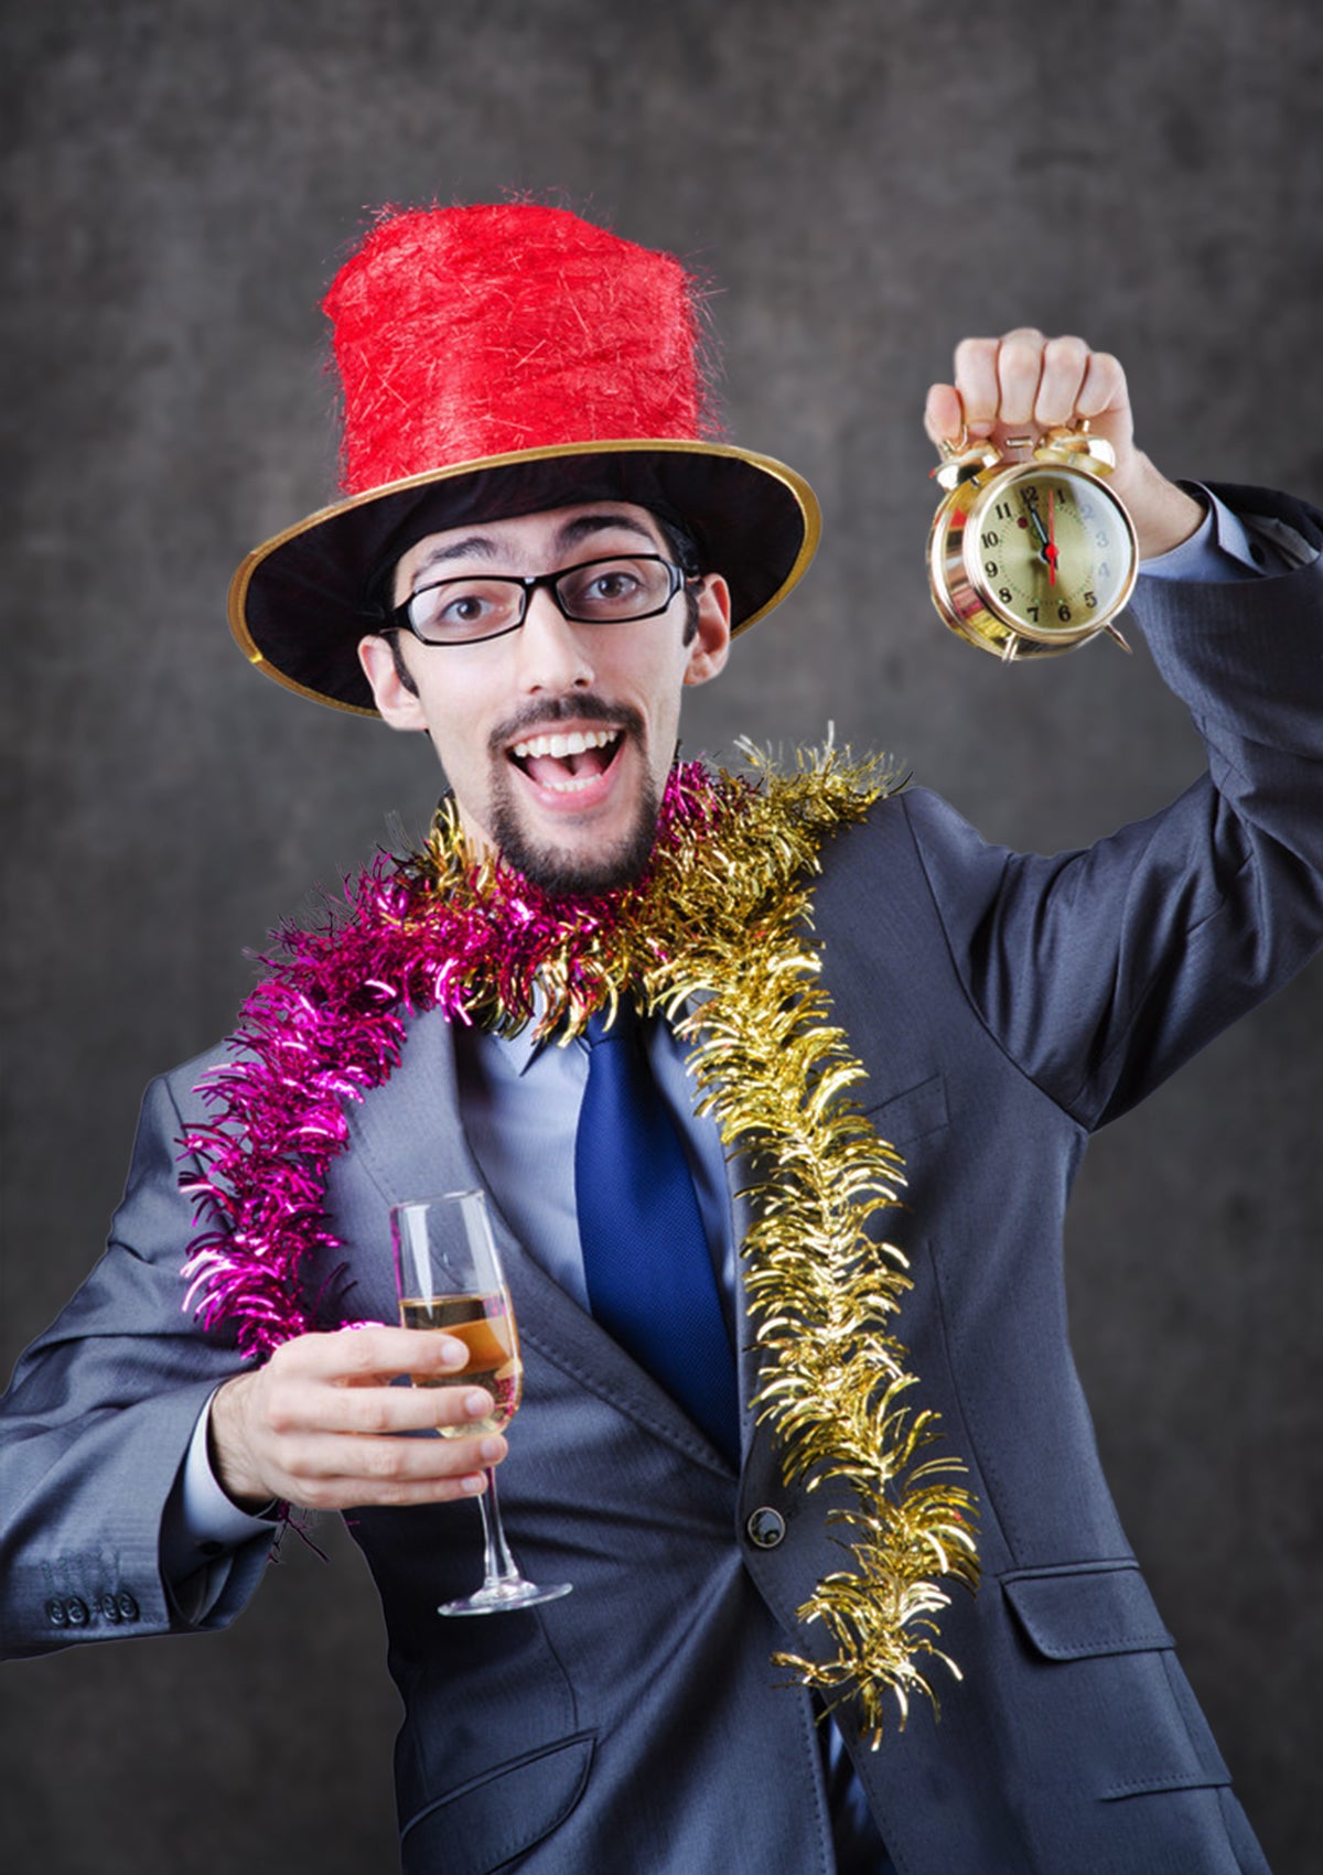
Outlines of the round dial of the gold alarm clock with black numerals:
[{"label": "round dial of the gold alarm clock with black numerals", "polygon": [[1096,630],[1133,587],[1128,516],[1088,471],[1002,471],[972,504],[963,548],[989,611],[1040,643]]}]

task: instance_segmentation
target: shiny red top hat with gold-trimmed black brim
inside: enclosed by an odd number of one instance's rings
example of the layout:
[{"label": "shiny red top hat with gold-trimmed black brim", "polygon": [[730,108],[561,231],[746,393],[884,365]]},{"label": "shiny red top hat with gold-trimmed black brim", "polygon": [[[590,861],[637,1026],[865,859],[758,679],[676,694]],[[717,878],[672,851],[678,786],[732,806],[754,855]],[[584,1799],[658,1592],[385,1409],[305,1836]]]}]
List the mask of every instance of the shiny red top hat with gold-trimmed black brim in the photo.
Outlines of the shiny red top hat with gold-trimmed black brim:
[{"label": "shiny red top hat with gold-trimmed black brim", "polygon": [[801,578],[818,502],[768,456],[711,441],[694,281],[563,208],[387,214],[325,311],[343,384],[343,499],[255,548],[229,591],[251,662],[375,714],[358,639],[422,534],[578,501],[681,519],[730,581],[736,628]]}]

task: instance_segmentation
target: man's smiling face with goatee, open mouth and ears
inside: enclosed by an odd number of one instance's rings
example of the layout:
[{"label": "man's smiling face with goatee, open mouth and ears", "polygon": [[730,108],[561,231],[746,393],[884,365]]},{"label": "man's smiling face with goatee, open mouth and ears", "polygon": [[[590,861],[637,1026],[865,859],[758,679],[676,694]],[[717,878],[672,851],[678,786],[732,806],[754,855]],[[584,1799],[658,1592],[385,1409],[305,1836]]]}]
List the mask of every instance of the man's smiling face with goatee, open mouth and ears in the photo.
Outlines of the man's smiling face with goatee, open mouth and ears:
[{"label": "man's smiling face with goatee, open mouth and ears", "polygon": [[[544,574],[614,553],[670,549],[646,508],[589,502],[428,534],[394,578],[394,602],[435,579]],[[730,598],[717,576],[696,592],[689,643],[681,589],[664,613],[574,624],[533,592],[524,624],[469,645],[358,647],[377,709],[396,729],[428,729],[467,836],[550,892],[601,892],[634,878],[651,849],[685,684],[726,662]]]}]

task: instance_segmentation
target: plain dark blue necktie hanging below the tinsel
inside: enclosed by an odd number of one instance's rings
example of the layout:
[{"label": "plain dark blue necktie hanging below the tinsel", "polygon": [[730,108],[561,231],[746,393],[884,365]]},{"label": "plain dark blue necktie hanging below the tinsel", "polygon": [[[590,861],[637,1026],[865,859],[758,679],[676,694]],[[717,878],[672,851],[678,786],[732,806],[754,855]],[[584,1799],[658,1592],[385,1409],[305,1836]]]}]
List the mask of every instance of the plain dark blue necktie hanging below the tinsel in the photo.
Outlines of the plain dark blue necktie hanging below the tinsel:
[{"label": "plain dark blue necktie hanging below the tinsel", "polygon": [[738,1464],[736,1361],[698,1194],[634,1011],[589,1016],[574,1192],[593,1316]]}]

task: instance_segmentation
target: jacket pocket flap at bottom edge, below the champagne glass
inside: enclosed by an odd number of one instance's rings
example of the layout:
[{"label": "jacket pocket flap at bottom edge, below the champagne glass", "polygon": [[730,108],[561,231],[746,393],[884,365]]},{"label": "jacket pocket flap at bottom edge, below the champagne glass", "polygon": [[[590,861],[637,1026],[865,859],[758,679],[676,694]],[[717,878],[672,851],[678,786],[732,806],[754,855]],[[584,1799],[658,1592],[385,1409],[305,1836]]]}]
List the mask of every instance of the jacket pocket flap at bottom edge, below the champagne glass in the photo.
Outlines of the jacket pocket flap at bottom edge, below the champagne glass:
[{"label": "jacket pocket flap at bottom edge, below the champagne glass", "polygon": [[580,1732],[527,1751],[418,1811],[400,1838],[403,1875],[488,1875],[540,1843],[584,1794],[593,1742]]}]

